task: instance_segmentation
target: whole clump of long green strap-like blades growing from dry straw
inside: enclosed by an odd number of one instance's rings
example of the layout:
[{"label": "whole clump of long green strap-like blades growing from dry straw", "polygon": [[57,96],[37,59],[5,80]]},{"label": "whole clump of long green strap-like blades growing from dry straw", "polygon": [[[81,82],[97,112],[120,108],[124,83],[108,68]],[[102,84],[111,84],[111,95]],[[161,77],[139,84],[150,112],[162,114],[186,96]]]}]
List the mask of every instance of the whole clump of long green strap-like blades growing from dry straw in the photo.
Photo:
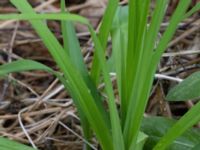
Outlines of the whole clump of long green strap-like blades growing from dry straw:
[{"label": "whole clump of long green strap-like blades growing from dry straw", "polygon": [[[0,66],[0,75],[38,69],[54,74],[71,94],[87,140],[91,138],[93,131],[104,150],[142,149],[147,136],[140,132],[140,127],[157,64],[179,22],[197,11],[200,5],[197,4],[187,12],[191,0],[180,1],[169,26],[162,38],[158,40],[157,35],[168,0],[157,0],[154,10],[150,9],[151,0],[130,0],[128,7],[119,9],[117,9],[118,0],[109,0],[98,35],[87,19],[65,12],[64,1],[61,3],[62,12],[57,14],[36,14],[26,0],[11,0],[11,2],[21,14],[0,15],[0,19],[28,20],[43,40],[63,75],[43,64],[23,59]],[[148,18],[151,18],[150,21]],[[42,21],[45,19],[61,20],[64,47]],[[95,51],[90,72],[84,64],[72,21],[85,24],[91,33]],[[114,22],[113,26],[112,22]],[[110,32],[121,102],[119,111],[115,104],[109,68],[104,56]],[[103,106],[102,97],[96,88],[100,75],[105,83],[108,110]],[[194,117],[194,112],[197,112],[198,108],[199,106],[196,105],[169,129],[167,135],[154,149],[165,149],[176,137],[194,125],[200,116],[196,115],[196,119],[190,123],[187,120]],[[180,128],[182,124],[185,124],[184,128]],[[174,130],[179,132],[173,132]]]}]

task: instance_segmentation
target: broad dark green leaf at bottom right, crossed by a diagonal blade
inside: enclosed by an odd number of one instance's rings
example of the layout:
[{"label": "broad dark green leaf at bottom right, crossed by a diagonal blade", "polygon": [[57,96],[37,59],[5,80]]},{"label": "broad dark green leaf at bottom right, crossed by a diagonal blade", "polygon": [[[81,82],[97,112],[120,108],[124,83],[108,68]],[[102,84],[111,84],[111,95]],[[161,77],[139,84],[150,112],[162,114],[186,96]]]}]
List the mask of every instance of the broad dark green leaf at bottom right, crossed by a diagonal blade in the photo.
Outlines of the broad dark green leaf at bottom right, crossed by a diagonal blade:
[{"label": "broad dark green leaf at bottom right, crossed by a diagonal blade", "polygon": [[[176,123],[175,120],[164,117],[147,117],[143,119],[141,130],[149,137],[144,149],[153,149],[156,143]],[[189,129],[173,141],[166,150],[190,150],[200,141],[200,130]]]}]

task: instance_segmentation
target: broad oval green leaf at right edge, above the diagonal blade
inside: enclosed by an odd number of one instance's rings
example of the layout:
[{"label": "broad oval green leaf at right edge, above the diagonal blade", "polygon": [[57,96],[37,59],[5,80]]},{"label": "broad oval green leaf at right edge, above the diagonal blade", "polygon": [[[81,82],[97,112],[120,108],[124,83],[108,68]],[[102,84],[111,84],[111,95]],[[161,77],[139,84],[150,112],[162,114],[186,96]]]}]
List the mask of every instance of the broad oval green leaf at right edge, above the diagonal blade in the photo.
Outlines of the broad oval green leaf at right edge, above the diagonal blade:
[{"label": "broad oval green leaf at right edge, above the diagonal blade", "polygon": [[166,99],[168,101],[186,101],[200,97],[200,72],[193,73],[173,87]]}]

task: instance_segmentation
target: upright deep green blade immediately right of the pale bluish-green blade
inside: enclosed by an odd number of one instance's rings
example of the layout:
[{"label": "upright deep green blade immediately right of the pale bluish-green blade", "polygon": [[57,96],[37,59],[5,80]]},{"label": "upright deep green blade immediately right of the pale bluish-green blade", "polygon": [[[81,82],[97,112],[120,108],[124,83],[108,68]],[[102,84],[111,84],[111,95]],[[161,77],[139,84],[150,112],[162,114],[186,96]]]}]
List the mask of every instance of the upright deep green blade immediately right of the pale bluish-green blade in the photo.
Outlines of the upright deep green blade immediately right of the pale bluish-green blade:
[{"label": "upright deep green blade immediately right of the pale bluish-green blade", "polygon": [[[133,70],[130,69],[135,67],[133,58],[136,57],[136,42],[137,41],[137,26],[135,24],[136,20],[139,18],[138,14],[138,2],[136,0],[129,1],[129,15],[128,15],[128,46],[127,50],[124,51],[125,56],[125,64],[124,64],[124,78],[122,79],[123,90],[121,91],[121,118],[122,118],[122,126],[124,128],[127,107],[128,107],[128,91],[130,91],[130,86],[133,83]],[[130,64],[131,61],[131,64]],[[131,65],[131,66],[130,66]],[[129,68],[129,69],[128,69]],[[127,140],[125,140],[127,145]]]}]

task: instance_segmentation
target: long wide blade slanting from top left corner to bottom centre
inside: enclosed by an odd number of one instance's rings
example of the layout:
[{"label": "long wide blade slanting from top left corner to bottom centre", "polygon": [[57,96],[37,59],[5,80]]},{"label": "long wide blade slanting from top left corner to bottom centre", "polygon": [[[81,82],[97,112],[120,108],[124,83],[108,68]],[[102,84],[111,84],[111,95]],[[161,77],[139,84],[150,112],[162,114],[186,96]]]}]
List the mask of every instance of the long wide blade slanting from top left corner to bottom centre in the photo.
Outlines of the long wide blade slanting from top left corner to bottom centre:
[{"label": "long wide blade slanting from top left corner to bottom centre", "polygon": [[[28,14],[29,16],[35,14],[35,12],[27,3],[27,1],[12,0],[12,3],[16,5],[20,11]],[[79,18],[78,20],[81,19]],[[58,63],[58,66],[61,68],[65,77],[67,78],[70,88],[73,89],[73,91],[75,91],[74,93],[76,93],[77,95],[76,97],[78,97],[77,104],[79,105],[79,108],[82,108],[82,112],[84,112],[83,114],[87,116],[88,121],[90,122],[93,130],[95,131],[96,136],[99,142],[101,143],[102,147],[104,149],[106,148],[112,149],[113,145],[108,130],[109,127],[105,121],[105,118],[103,118],[102,113],[99,111],[99,107],[97,107],[96,104],[94,103],[94,99],[90,94],[90,90],[85,85],[85,82],[82,80],[80,74],[73,67],[73,64],[70,61],[70,58],[68,57],[67,53],[65,53],[63,48],[56,40],[56,38],[53,36],[53,34],[49,31],[47,26],[42,21],[33,20],[30,22],[37,31],[37,33],[40,35],[40,37],[42,37],[47,48],[52,53],[52,56]],[[91,111],[93,111],[93,113]],[[104,130],[103,133],[102,130]]]}]

